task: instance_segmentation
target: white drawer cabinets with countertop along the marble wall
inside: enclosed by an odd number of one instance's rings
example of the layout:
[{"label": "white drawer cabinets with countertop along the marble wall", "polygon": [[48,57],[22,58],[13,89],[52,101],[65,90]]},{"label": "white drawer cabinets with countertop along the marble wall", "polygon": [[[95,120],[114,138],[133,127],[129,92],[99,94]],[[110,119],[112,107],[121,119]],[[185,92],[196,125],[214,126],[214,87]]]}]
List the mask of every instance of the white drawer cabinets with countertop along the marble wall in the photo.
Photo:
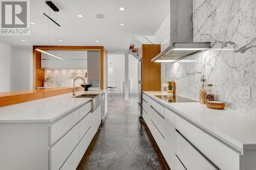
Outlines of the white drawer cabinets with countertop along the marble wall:
[{"label": "white drawer cabinets with countertop along the marble wall", "polygon": [[199,102],[168,103],[155,95],[167,94],[143,91],[142,116],[170,168],[256,167],[255,115]]}]

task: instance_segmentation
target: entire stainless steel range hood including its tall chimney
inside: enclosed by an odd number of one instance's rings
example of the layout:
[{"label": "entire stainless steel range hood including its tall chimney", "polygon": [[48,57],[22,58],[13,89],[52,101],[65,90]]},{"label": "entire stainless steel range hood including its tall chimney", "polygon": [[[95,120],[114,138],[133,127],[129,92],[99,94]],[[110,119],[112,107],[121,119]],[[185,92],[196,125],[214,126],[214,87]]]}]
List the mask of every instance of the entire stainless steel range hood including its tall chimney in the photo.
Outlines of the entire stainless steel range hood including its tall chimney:
[{"label": "entire stainless steel range hood including its tall chimney", "polygon": [[175,62],[210,48],[210,42],[193,42],[193,6],[193,0],[170,0],[170,45],[152,62]]}]

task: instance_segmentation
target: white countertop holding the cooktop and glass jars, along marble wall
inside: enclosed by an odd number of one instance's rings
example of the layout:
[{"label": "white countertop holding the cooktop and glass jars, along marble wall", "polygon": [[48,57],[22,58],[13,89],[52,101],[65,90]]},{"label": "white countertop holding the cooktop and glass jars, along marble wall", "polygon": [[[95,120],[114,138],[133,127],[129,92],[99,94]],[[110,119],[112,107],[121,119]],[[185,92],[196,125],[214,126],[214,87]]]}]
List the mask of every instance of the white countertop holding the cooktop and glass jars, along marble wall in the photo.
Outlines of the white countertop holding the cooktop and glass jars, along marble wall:
[{"label": "white countertop holding the cooktop and glass jars, along marble wall", "polygon": [[256,149],[255,115],[230,109],[209,109],[199,102],[167,103],[154,96],[164,95],[160,91],[143,93],[236,150]]}]

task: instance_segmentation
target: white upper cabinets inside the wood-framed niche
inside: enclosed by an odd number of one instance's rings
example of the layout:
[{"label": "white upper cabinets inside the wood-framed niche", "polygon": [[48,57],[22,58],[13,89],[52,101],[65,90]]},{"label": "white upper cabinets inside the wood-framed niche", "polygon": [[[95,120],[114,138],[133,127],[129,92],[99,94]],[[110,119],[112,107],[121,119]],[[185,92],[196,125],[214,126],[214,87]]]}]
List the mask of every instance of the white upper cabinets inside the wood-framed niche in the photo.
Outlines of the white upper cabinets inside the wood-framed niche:
[{"label": "white upper cabinets inside the wood-framed niche", "polygon": [[41,53],[42,69],[62,69],[62,68],[87,68],[87,51],[48,51],[64,58],[57,59],[47,54]]}]

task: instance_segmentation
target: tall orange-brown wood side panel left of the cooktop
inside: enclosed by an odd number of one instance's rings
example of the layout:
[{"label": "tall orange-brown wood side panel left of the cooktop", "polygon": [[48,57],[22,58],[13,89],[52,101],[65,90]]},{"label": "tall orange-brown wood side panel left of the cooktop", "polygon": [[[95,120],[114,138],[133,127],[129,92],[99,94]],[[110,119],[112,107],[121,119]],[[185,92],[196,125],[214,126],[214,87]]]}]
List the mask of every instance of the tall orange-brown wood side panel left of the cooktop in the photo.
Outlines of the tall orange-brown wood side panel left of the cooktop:
[{"label": "tall orange-brown wood side panel left of the cooktop", "polygon": [[142,91],[161,91],[161,63],[151,62],[161,52],[160,44],[143,44],[139,51],[142,57]]}]

